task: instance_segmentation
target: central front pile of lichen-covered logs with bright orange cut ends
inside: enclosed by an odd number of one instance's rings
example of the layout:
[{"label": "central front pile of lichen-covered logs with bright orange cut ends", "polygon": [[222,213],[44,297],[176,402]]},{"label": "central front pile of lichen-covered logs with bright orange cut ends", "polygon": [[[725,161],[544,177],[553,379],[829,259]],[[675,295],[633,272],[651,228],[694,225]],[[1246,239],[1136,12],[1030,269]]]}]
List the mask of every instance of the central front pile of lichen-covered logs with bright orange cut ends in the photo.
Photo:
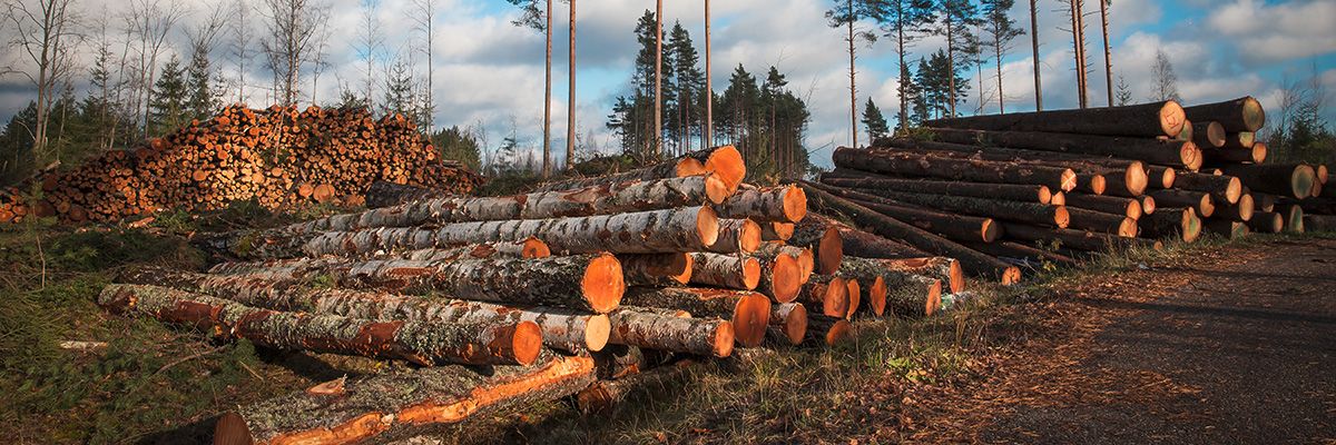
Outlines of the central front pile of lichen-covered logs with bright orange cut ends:
[{"label": "central front pile of lichen-covered logs with bright orange cut ends", "polygon": [[99,302],[223,339],[425,366],[244,406],[216,428],[335,442],[570,394],[601,410],[692,357],[834,345],[854,318],[929,315],[943,286],[963,290],[954,259],[846,257],[848,227],[807,215],[800,187],[744,175],[725,146],[513,196],[379,187],[417,200],[200,235],[231,261],[127,273]]}]

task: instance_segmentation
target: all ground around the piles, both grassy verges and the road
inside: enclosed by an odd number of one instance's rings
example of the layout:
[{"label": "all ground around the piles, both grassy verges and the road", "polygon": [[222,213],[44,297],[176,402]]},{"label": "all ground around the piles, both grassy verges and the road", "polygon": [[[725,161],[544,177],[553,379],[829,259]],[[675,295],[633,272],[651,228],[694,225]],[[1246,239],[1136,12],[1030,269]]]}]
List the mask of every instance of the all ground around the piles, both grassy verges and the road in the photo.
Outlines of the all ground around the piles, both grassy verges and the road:
[{"label": "all ground around the piles, both grassy verges and the road", "polygon": [[[406,366],[210,343],[92,303],[124,267],[203,266],[184,234],[290,219],[0,229],[0,437],[199,442],[238,405]],[[859,322],[839,347],[693,366],[612,413],[554,401],[411,442],[1333,442],[1333,286],[1331,234],[1124,251],[927,319]]]}]

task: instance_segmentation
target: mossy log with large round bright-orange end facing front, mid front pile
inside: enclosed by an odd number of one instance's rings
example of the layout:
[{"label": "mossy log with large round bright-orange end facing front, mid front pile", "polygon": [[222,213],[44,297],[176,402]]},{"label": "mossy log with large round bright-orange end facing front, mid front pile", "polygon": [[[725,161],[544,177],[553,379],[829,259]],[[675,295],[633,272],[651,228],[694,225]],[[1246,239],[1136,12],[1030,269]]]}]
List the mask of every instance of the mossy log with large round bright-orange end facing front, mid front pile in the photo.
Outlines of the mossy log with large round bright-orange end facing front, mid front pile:
[{"label": "mossy log with large round bright-orange end facing front, mid front pile", "polygon": [[617,307],[625,291],[621,265],[609,254],[541,259],[291,259],[270,263],[222,263],[215,274],[270,279],[327,278],[349,287],[379,287],[413,294],[513,305],[560,306],[595,313]]}]

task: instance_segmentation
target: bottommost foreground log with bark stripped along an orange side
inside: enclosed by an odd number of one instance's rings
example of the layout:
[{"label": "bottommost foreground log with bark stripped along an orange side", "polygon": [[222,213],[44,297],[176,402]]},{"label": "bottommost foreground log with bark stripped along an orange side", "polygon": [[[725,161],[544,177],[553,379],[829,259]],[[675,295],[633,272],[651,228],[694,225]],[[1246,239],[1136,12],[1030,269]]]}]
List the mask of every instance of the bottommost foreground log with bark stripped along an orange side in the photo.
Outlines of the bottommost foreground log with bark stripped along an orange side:
[{"label": "bottommost foreground log with bark stripped along an orange side", "polygon": [[322,384],[223,416],[215,442],[394,441],[509,406],[560,400],[595,382],[588,357],[545,354],[530,366],[421,367]]}]

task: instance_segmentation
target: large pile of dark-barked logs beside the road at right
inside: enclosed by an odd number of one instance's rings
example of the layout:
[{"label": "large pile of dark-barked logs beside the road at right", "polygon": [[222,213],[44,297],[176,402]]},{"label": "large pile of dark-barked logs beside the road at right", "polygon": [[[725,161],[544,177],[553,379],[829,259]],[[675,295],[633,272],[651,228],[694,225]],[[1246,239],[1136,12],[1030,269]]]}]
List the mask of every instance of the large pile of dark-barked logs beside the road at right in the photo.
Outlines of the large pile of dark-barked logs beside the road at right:
[{"label": "large pile of dark-barked logs beside the road at right", "polygon": [[1264,122],[1253,98],[938,119],[839,148],[836,168],[803,186],[904,249],[1013,282],[1015,266],[1204,231],[1301,231],[1305,208],[1336,210],[1325,166],[1264,163]]}]

